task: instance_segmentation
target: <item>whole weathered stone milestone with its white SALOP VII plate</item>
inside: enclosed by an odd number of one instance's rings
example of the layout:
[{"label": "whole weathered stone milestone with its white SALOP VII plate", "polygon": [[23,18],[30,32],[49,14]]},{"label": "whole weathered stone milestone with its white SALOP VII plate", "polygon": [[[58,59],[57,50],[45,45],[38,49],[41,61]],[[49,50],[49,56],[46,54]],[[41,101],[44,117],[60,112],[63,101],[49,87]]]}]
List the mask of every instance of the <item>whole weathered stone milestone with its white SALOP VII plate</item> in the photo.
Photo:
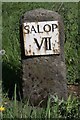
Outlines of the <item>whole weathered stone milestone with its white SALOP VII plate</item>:
[{"label": "whole weathered stone milestone with its white SALOP VII plate", "polygon": [[48,96],[67,99],[64,39],[57,12],[40,8],[21,17],[23,96],[31,105],[46,104]]}]

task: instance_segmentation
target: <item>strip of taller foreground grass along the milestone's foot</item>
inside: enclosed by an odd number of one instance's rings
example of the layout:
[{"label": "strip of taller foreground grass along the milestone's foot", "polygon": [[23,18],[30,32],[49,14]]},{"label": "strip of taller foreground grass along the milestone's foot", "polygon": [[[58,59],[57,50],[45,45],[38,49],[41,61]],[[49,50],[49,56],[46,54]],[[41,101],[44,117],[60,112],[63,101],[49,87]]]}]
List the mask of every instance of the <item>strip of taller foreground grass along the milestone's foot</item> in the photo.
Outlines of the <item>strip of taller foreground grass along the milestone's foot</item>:
[{"label": "strip of taller foreground grass along the milestone's foot", "polygon": [[30,106],[29,101],[16,100],[16,85],[14,90],[14,100],[9,101],[7,98],[3,99],[5,111],[3,118],[38,118],[38,119],[52,119],[52,118],[80,118],[80,103],[77,98],[71,95],[67,101],[59,100],[58,96],[49,97],[46,107]]}]

